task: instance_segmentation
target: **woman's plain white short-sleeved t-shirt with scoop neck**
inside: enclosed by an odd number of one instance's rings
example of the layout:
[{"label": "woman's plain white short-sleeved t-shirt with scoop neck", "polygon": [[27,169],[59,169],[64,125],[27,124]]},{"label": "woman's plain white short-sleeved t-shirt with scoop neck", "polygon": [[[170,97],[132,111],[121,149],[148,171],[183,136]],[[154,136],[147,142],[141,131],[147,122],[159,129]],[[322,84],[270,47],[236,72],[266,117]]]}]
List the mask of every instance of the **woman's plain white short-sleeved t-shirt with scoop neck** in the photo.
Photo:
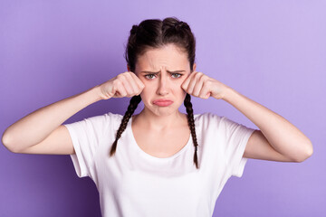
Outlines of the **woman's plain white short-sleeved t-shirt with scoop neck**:
[{"label": "woman's plain white short-sleeved t-shirt with scoop neck", "polygon": [[72,137],[76,173],[96,184],[103,217],[211,217],[228,178],[243,175],[253,128],[212,113],[194,115],[197,169],[191,136],[174,156],[150,156],[136,143],[132,118],[109,157],[122,117],[109,112],[64,125]]}]

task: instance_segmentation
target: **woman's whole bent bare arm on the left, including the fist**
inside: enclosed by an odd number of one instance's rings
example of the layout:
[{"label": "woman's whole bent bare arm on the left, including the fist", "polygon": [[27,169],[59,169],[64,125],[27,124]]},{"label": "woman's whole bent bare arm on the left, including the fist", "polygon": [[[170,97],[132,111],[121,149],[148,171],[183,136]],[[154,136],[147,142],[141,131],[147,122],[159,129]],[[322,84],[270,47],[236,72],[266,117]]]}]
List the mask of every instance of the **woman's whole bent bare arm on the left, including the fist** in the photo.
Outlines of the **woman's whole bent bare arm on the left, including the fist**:
[{"label": "woman's whole bent bare arm on the left, including the fist", "polygon": [[133,72],[120,73],[101,85],[35,110],[5,130],[2,142],[14,153],[71,155],[72,138],[62,123],[101,99],[139,95],[144,84]]}]

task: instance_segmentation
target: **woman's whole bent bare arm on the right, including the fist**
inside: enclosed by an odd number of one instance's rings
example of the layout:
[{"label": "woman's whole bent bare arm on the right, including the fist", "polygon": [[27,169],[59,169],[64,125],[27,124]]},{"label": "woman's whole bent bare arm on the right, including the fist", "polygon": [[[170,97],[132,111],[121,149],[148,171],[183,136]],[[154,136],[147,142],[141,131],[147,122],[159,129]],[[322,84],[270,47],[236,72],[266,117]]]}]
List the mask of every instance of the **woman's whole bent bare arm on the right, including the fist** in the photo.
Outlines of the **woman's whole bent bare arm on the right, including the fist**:
[{"label": "woman's whole bent bare arm on the right, including the fist", "polygon": [[302,162],[312,156],[312,141],[288,120],[248,99],[219,80],[192,72],[181,85],[195,97],[224,99],[242,112],[260,130],[255,130],[245,147],[247,158]]}]

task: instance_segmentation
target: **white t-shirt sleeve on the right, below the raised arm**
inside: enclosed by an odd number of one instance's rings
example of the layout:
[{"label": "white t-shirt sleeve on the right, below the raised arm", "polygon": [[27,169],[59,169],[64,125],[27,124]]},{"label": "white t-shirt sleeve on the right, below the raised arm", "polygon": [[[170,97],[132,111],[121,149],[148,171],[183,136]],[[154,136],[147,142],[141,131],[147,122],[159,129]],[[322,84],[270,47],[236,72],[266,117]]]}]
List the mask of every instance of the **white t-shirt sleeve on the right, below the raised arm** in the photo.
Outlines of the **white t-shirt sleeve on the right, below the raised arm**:
[{"label": "white t-shirt sleeve on the right, below the raised arm", "polygon": [[222,117],[221,125],[225,127],[225,157],[230,167],[231,175],[241,177],[244,173],[247,158],[243,157],[245,146],[254,128],[245,127],[235,121]]}]

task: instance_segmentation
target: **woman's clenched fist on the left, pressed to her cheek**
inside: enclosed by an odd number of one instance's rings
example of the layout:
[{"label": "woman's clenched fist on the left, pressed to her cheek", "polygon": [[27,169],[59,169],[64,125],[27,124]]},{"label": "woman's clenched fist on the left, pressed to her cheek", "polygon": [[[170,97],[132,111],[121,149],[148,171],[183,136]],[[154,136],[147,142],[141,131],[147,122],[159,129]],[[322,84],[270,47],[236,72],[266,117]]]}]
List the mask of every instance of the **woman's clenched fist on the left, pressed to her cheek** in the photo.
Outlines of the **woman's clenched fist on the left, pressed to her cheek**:
[{"label": "woman's clenched fist on the left, pressed to her cheek", "polygon": [[145,85],[135,73],[126,71],[100,85],[101,99],[133,97],[144,88]]}]

